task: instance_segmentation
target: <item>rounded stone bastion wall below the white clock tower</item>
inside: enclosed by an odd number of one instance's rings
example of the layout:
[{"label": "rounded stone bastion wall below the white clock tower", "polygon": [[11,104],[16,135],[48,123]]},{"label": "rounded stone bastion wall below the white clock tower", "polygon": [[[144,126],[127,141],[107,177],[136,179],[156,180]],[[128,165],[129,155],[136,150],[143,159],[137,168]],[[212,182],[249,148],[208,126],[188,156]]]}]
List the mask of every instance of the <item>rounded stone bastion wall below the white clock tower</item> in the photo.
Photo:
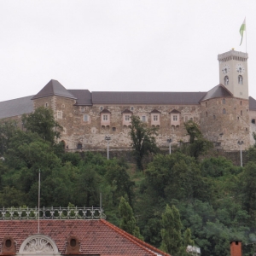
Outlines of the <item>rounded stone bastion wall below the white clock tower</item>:
[{"label": "rounded stone bastion wall below the white clock tower", "polygon": [[201,102],[201,131],[208,140],[224,150],[250,146],[248,101],[234,97],[213,98]]}]

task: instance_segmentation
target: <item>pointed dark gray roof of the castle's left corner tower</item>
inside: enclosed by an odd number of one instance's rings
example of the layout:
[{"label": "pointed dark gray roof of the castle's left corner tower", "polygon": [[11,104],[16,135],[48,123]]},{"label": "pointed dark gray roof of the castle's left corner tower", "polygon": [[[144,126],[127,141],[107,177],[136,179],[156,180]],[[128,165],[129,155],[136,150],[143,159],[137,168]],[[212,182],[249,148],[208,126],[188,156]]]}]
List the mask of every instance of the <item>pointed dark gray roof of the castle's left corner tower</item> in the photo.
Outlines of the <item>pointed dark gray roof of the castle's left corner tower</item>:
[{"label": "pointed dark gray roof of the castle's left corner tower", "polygon": [[32,100],[46,97],[46,96],[63,96],[67,98],[76,99],[72,93],[70,93],[62,84],[57,80],[50,80],[48,84],[44,86],[37,95],[32,97]]}]

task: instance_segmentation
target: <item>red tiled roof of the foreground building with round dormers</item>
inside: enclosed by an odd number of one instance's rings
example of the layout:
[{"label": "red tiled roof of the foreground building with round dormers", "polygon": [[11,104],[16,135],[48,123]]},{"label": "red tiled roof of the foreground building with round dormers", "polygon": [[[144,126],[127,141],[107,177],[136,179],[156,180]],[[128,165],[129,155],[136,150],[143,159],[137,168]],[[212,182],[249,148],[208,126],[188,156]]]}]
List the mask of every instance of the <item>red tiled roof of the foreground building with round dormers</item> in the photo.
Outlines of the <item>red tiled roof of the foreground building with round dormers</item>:
[{"label": "red tiled roof of the foreground building with round dormers", "polygon": [[[37,220],[1,220],[0,244],[4,236],[12,236],[16,241],[16,251],[28,236],[38,234]],[[163,255],[159,249],[120,230],[108,221],[83,219],[44,219],[40,220],[40,234],[55,241],[61,254],[66,254],[67,239],[76,236],[80,241],[79,254],[117,255]]]}]

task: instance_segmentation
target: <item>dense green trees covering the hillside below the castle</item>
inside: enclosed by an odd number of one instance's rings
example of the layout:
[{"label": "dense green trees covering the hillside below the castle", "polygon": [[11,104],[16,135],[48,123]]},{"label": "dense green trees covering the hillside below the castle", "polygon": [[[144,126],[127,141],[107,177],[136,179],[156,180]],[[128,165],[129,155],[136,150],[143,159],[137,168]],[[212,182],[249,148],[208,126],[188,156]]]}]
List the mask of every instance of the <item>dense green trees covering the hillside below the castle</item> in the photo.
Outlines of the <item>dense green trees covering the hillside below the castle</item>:
[{"label": "dense green trees covering the hillside below the castle", "polygon": [[[253,253],[255,146],[247,152],[247,165],[237,167],[220,156],[200,160],[205,148],[196,149],[199,136],[190,142],[191,150],[156,154],[144,172],[136,172],[124,159],[67,153],[58,134],[49,139],[46,134],[32,126],[20,131],[13,122],[0,124],[0,207],[36,207],[40,169],[44,207],[99,207],[102,193],[108,221],[173,255],[183,255],[194,242],[202,255],[230,255],[232,240],[243,241],[244,256]],[[170,234],[176,234],[172,244]]]}]

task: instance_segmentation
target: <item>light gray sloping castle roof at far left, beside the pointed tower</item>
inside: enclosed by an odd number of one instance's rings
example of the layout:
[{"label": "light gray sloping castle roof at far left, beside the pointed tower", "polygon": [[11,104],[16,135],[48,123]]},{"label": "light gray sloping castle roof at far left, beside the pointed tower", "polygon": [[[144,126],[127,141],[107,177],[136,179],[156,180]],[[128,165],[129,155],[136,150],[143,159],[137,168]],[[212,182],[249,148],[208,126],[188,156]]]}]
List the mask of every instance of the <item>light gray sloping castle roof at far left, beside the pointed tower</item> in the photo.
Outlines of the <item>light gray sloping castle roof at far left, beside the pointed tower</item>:
[{"label": "light gray sloping castle roof at far left, beside the pointed tower", "polygon": [[0,119],[21,115],[23,113],[32,113],[32,96],[26,96],[15,100],[0,102]]}]

